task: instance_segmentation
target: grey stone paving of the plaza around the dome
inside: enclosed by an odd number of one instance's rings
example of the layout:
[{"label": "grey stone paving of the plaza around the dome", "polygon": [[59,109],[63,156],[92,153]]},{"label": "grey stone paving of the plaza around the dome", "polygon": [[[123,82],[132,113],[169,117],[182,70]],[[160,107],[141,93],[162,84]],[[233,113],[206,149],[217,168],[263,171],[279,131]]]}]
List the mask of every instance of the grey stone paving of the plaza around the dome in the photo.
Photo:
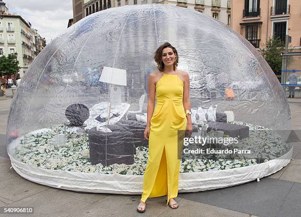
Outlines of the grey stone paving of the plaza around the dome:
[{"label": "grey stone paving of the plaza around the dome", "polygon": [[[10,91],[0,100],[0,208],[34,207],[33,215],[0,217],[301,217],[301,142],[294,143],[294,160],[260,182],[207,192],[180,193],[172,210],[165,197],[149,198],[147,211],[136,212],[140,195],[78,193],[42,186],[19,176],[5,148]],[[292,128],[301,138],[301,98],[289,99]]]}]

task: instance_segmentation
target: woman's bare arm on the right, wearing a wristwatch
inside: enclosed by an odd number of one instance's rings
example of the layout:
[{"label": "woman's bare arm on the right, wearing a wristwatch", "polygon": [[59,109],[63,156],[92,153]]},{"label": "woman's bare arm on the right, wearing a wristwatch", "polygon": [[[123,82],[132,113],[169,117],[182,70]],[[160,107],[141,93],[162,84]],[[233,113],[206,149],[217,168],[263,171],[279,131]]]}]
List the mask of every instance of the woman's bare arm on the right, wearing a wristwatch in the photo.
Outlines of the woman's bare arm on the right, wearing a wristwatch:
[{"label": "woman's bare arm on the right, wearing a wristwatch", "polygon": [[[191,111],[191,104],[190,104],[190,98],[189,98],[189,86],[190,86],[190,82],[189,82],[189,75],[186,71],[182,71],[182,78],[184,80],[184,90],[183,90],[183,106],[186,110]],[[187,118],[187,130],[191,130],[192,131],[192,121],[191,121],[191,115],[186,116]]]}]

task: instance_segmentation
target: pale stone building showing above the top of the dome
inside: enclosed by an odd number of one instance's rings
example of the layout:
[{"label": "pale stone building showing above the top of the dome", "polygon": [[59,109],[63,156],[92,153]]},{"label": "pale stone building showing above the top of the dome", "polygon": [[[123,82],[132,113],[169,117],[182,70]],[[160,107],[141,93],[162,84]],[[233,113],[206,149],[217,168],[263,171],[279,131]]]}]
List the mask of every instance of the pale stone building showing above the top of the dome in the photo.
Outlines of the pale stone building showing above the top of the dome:
[{"label": "pale stone building showing above the top of the dome", "polygon": [[87,17],[92,13],[111,7],[147,3],[175,4],[207,14],[230,26],[231,0],[83,0],[81,1],[83,5],[81,10],[76,8],[76,5],[80,5],[80,0],[73,0],[73,20],[74,23],[78,21],[80,11],[83,12],[82,17]]}]

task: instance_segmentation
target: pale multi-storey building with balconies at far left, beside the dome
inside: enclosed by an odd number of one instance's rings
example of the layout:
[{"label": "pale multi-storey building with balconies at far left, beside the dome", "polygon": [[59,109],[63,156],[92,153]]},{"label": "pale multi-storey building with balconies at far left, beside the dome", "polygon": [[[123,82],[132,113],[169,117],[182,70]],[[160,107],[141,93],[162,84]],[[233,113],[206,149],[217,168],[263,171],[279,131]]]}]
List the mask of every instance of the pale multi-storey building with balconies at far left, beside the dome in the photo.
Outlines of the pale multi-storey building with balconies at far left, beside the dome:
[{"label": "pale multi-storey building with balconies at far left, beside the dome", "polygon": [[[43,38],[40,47],[35,40],[37,31],[31,28],[21,15],[9,13],[5,9],[3,19],[0,20],[0,56],[17,53],[17,60],[21,69],[17,73],[22,77],[28,70],[38,52],[45,47]],[[37,46],[37,47],[36,47]]]}]

